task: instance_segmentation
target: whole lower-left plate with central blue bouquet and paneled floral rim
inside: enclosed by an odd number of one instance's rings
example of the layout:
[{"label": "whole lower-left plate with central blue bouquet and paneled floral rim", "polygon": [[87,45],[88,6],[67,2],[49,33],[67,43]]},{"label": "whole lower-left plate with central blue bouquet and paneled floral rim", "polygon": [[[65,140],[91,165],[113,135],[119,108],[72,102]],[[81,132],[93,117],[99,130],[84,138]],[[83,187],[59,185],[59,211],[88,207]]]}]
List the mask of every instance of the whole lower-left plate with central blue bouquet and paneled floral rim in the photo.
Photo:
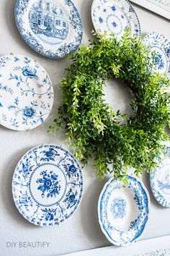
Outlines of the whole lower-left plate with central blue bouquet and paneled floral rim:
[{"label": "whole lower-left plate with central blue bouquet and paneled floral rim", "polygon": [[78,161],[57,145],[40,145],[17,164],[12,180],[14,202],[31,223],[53,226],[78,208],[83,175]]}]

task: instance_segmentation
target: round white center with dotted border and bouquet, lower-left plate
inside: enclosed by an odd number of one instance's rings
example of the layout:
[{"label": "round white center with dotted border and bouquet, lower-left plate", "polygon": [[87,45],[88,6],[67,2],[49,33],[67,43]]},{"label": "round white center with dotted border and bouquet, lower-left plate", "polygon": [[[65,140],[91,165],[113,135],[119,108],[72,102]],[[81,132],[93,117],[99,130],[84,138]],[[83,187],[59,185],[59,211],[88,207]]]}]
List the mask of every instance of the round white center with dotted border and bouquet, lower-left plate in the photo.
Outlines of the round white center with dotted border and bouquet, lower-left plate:
[{"label": "round white center with dotted border and bouquet, lower-left plate", "polygon": [[55,164],[38,166],[30,177],[30,194],[40,205],[53,205],[66,192],[66,177]]}]

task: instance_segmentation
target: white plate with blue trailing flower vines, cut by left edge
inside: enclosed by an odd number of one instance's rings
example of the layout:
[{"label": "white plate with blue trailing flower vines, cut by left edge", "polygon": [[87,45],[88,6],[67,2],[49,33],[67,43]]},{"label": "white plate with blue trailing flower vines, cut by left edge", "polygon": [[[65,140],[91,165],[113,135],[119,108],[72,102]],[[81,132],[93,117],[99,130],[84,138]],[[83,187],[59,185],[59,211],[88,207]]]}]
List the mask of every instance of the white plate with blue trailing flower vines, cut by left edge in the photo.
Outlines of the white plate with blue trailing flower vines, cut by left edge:
[{"label": "white plate with blue trailing flower vines, cut by left edge", "polygon": [[45,69],[22,55],[0,58],[0,124],[9,129],[38,127],[53,107],[53,85]]}]

